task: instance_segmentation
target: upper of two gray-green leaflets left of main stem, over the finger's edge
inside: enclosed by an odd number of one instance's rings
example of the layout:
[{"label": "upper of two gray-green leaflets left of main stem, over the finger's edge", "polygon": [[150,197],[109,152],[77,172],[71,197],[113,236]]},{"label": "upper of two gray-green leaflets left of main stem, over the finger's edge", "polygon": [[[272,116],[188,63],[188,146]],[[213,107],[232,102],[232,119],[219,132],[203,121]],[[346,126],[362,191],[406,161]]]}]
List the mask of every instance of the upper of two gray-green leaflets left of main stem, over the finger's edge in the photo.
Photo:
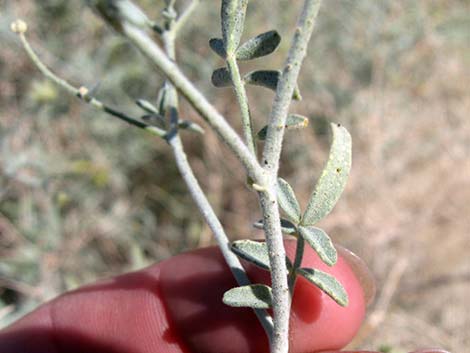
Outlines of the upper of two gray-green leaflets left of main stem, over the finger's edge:
[{"label": "upper of two gray-green leaflets left of main stem, over the finger's edge", "polygon": [[[231,245],[232,251],[240,258],[255,264],[258,267],[270,270],[268,247],[265,242],[249,239],[236,240]],[[287,269],[292,268],[292,263],[286,257]]]}]

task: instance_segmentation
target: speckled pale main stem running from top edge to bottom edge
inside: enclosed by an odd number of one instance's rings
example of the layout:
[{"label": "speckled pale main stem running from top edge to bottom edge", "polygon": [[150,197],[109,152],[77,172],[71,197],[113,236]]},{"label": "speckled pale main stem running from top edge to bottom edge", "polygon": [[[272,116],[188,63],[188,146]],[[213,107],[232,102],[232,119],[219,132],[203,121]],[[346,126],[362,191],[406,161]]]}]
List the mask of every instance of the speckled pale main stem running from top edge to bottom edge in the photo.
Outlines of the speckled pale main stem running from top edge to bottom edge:
[{"label": "speckled pale main stem running from top edge to bottom edge", "polygon": [[307,52],[307,44],[313,31],[314,19],[318,14],[320,3],[321,0],[305,0],[304,2],[285,67],[278,83],[263,150],[263,164],[264,170],[268,174],[268,184],[266,185],[267,192],[260,193],[260,203],[271,263],[274,311],[272,352],[275,353],[287,353],[289,350],[290,316],[289,286],[285,275],[287,270],[276,197],[276,180],[289,105],[302,60]]}]

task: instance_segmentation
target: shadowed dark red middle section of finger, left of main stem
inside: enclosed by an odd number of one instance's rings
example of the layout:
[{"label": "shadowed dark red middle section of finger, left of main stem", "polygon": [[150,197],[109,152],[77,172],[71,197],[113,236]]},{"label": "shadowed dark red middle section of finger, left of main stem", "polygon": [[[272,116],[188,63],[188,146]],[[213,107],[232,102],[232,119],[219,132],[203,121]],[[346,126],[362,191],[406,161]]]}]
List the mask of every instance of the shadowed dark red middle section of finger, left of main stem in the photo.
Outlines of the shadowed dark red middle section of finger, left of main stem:
[{"label": "shadowed dark red middle section of finger, left of main stem", "polygon": [[268,352],[251,309],[222,302],[237,284],[217,248],[178,255],[161,267],[160,288],[170,320],[192,352]]}]

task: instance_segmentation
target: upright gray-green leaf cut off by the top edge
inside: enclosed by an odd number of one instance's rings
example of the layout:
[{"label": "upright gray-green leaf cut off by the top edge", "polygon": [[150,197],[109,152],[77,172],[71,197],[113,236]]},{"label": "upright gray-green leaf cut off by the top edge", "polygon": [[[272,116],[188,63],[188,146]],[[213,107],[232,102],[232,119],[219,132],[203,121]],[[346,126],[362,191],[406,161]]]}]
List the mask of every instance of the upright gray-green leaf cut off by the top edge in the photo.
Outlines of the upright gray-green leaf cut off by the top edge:
[{"label": "upright gray-green leaf cut off by the top edge", "polygon": [[222,0],[222,37],[225,53],[235,53],[240,44],[248,0]]}]

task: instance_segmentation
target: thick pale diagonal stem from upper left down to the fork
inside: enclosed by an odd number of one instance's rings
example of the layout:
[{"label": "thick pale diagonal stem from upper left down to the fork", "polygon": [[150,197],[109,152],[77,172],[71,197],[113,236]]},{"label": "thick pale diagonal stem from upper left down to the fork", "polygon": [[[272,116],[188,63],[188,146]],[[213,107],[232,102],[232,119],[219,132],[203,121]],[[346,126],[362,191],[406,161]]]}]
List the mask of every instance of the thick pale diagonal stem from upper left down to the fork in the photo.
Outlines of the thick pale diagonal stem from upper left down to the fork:
[{"label": "thick pale diagonal stem from upper left down to the fork", "polygon": [[189,101],[194,109],[209,123],[221,140],[233,151],[245,167],[248,175],[258,184],[264,181],[264,171],[256,157],[250,152],[240,136],[227,123],[225,118],[194,87],[178,66],[156,45],[147,33],[125,24],[124,35],[165,74],[168,80]]}]

